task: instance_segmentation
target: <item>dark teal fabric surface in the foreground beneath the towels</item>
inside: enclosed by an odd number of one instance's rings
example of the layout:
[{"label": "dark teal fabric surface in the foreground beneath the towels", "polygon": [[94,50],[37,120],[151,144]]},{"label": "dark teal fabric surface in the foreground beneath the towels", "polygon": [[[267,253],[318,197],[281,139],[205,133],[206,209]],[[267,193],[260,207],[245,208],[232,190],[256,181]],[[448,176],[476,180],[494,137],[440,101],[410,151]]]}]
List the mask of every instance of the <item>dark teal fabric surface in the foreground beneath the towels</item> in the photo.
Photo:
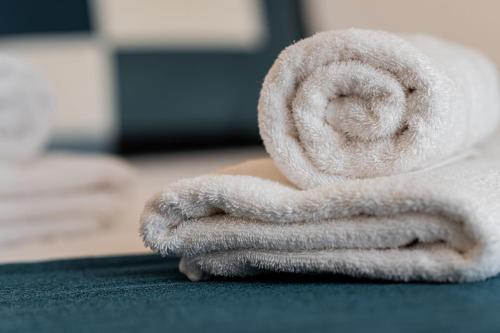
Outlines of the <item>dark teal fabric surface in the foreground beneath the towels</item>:
[{"label": "dark teal fabric surface in the foreground beneath the towels", "polygon": [[3,265],[0,288],[0,332],[500,332],[500,278],[193,283],[148,255]]}]

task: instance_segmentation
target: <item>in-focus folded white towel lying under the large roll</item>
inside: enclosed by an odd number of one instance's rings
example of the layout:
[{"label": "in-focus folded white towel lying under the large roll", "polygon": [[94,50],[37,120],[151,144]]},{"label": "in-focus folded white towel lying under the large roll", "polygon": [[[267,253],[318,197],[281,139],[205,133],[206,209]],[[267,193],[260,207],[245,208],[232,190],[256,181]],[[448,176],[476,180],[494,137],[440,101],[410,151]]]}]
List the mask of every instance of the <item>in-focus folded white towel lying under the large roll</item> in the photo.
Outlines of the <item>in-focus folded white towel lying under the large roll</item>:
[{"label": "in-focus folded white towel lying under the large roll", "polygon": [[[476,281],[500,272],[500,158],[299,190],[271,160],[168,186],[142,235],[192,280],[261,271]],[[256,175],[256,176],[255,176]]]}]

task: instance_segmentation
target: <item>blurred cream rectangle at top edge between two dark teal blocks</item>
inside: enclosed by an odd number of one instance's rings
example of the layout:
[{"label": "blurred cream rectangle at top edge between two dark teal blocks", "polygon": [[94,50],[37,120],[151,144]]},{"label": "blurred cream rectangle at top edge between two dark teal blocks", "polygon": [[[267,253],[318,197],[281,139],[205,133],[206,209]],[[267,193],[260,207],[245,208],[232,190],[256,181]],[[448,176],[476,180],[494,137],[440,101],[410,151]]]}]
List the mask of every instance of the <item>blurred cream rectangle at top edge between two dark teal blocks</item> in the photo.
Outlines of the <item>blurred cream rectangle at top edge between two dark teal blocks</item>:
[{"label": "blurred cream rectangle at top edge between two dark teal blocks", "polygon": [[254,48],[265,35],[256,0],[95,0],[101,33],[125,46]]}]

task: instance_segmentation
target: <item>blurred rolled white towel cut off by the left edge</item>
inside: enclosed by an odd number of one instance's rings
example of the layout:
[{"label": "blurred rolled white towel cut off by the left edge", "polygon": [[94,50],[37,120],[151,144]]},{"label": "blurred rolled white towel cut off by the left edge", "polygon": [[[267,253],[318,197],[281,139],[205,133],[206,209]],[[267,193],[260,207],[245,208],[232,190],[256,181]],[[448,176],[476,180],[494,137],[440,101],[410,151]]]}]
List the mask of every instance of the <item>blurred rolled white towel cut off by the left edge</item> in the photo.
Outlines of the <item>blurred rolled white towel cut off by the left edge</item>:
[{"label": "blurred rolled white towel cut off by the left edge", "polygon": [[0,55],[0,161],[37,156],[49,139],[53,109],[44,77],[29,63]]}]

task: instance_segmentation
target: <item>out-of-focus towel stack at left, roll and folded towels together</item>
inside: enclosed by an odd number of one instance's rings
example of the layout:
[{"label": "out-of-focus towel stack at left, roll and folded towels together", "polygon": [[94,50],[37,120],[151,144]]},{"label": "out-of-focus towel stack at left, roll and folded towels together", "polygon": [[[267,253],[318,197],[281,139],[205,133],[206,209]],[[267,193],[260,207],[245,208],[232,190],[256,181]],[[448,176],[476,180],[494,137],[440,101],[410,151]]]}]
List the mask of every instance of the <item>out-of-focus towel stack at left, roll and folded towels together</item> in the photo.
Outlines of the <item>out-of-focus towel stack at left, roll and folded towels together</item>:
[{"label": "out-of-focus towel stack at left, roll and folded towels together", "polygon": [[0,56],[0,246],[99,230],[129,193],[132,172],[121,161],[44,154],[52,96],[36,69]]}]

